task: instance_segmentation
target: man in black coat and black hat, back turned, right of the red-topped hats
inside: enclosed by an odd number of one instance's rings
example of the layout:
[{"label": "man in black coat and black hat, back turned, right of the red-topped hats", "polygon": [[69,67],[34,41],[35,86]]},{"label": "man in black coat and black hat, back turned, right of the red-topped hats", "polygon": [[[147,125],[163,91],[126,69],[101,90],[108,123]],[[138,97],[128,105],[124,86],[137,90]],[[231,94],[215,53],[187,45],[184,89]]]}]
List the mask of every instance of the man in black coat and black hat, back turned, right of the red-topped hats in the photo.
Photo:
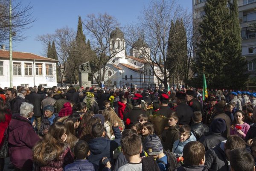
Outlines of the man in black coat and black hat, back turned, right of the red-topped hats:
[{"label": "man in black coat and black hat, back turned, right of the red-topped hats", "polygon": [[193,110],[186,104],[185,97],[186,93],[176,92],[177,107],[175,107],[175,110],[179,117],[179,125],[190,125],[193,116]]}]

